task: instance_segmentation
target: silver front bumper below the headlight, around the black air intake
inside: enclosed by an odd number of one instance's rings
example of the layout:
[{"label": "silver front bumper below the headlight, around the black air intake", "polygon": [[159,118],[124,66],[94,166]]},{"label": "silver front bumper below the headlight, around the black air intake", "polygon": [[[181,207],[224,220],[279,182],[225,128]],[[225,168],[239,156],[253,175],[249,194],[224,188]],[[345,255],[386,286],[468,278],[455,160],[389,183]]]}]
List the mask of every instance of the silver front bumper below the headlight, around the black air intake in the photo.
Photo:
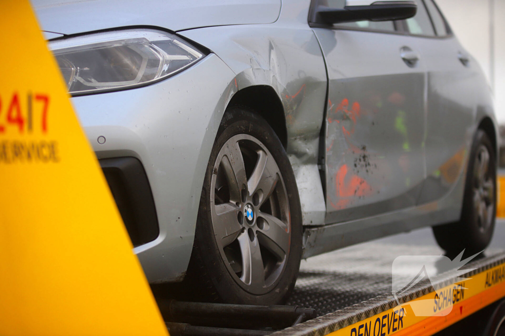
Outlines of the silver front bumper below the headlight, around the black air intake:
[{"label": "silver front bumper below the headlight, around the black air intake", "polygon": [[159,235],[134,252],[150,283],[184,277],[210,152],[237,91],[234,77],[211,53],[154,85],[72,98],[98,159],[136,158],[145,170]]}]

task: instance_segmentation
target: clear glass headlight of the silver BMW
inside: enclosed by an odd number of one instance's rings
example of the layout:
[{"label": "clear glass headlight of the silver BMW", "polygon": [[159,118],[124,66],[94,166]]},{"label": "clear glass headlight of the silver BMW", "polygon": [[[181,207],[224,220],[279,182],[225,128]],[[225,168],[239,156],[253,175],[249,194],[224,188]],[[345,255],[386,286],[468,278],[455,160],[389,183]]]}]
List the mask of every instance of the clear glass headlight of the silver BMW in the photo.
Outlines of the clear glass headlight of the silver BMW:
[{"label": "clear glass headlight of the silver BMW", "polygon": [[156,30],[121,30],[49,43],[73,95],[133,88],[187,68],[204,53]]}]

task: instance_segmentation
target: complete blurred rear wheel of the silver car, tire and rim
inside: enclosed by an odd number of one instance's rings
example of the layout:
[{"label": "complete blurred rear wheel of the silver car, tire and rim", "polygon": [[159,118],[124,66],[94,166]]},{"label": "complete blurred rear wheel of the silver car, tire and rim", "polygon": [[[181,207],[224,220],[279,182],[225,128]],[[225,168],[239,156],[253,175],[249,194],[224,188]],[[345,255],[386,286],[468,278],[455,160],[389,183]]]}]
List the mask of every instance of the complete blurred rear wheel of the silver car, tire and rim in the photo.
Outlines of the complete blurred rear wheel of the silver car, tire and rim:
[{"label": "complete blurred rear wheel of the silver car, tire and rim", "polygon": [[479,129],[470,153],[463,210],[457,223],[433,227],[433,233],[448,254],[482,251],[491,241],[496,215],[496,156],[487,134]]}]

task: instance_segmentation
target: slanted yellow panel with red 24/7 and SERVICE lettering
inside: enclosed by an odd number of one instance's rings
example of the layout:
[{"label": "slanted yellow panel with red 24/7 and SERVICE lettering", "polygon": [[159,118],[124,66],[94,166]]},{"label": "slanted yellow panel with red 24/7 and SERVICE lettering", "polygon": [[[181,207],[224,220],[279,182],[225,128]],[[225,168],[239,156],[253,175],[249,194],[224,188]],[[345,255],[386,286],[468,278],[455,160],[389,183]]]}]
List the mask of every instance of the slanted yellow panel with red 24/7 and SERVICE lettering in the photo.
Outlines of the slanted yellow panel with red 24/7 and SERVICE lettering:
[{"label": "slanted yellow panel with red 24/7 and SERVICE lettering", "polygon": [[29,2],[0,13],[0,334],[167,335]]}]

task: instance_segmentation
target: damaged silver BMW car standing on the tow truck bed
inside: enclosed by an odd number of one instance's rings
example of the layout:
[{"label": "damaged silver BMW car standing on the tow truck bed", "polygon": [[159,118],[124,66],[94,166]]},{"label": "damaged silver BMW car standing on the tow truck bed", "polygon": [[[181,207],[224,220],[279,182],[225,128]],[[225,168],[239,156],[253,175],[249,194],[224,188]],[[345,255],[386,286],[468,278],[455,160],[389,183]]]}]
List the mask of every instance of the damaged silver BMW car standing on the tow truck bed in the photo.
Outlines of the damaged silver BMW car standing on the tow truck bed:
[{"label": "damaged silver BMW car standing on the tow truck bed", "polygon": [[151,284],[270,305],[301,258],[489,243],[492,96],[433,0],[32,3]]}]

